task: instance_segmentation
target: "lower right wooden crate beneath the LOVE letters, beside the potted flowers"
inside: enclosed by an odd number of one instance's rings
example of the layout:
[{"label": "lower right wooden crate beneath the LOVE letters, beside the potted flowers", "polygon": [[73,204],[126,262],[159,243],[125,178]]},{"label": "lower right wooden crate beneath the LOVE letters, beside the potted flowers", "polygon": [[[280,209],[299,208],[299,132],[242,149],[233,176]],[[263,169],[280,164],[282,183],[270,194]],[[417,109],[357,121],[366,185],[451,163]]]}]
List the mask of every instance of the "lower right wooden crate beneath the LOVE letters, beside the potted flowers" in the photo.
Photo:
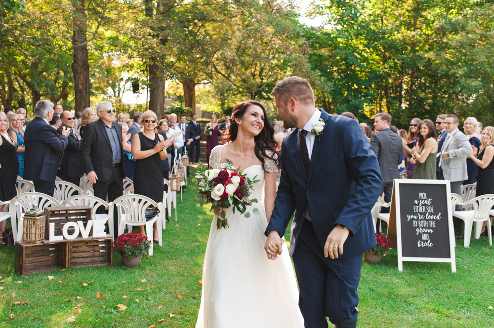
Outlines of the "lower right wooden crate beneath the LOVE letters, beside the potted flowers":
[{"label": "lower right wooden crate beneath the LOVE letters, beside the potted flowers", "polygon": [[113,237],[71,241],[68,267],[100,266],[113,264]]}]

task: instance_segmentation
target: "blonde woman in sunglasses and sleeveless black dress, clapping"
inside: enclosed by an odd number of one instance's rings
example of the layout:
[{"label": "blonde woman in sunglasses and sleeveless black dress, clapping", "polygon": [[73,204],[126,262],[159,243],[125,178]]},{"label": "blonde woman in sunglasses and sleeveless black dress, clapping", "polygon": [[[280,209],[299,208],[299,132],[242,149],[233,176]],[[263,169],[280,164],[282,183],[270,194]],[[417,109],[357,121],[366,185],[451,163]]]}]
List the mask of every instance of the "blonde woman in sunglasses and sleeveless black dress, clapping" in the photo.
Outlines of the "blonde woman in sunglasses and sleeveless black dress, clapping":
[{"label": "blonde woman in sunglasses and sleeveless black dress, clapping", "polygon": [[[157,116],[154,111],[147,110],[141,116],[142,131],[132,139],[132,156],[135,159],[134,193],[151,198],[157,203],[163,202],[163,171],[162,160],[166,159],[166,148],[171,146],[170,139],[154,132]],[[141,235],[146,235],[144,225],[138,227]],[[153,226],[153,239],[157,242],[156,222]]]}]

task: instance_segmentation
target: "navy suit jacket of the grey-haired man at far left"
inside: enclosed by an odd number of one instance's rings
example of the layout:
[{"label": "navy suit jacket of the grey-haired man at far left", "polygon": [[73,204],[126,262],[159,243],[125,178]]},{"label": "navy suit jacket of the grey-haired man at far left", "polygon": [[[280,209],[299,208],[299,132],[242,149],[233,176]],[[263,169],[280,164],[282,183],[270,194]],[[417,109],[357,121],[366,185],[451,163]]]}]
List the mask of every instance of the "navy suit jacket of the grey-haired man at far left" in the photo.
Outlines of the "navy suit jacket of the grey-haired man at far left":
[{"label": "navy suit jacket of the grey-haired man at far left", "polygon": [[26,127],[24,144],[24,179],[54,183],[60,166],[60,153],[68,144],[67,137],[58,139],[56,130],[36,117]]}]

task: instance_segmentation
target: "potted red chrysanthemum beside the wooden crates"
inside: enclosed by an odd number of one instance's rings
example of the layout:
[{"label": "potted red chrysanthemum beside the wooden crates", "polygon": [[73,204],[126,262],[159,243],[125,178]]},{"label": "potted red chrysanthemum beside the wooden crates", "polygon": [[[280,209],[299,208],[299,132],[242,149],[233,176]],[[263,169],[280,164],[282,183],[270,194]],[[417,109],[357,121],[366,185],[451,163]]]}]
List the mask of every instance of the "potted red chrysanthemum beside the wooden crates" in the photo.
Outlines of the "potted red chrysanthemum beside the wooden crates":
[{"label": "potted red chrysanthemum beside the wooden crates", "polygon": [[125,266],[139,265],[142,255],[150,248],[151,242],[148,238],[135,232],[124,233],[113,241],[113,249],[122,255],[122,263]]}]

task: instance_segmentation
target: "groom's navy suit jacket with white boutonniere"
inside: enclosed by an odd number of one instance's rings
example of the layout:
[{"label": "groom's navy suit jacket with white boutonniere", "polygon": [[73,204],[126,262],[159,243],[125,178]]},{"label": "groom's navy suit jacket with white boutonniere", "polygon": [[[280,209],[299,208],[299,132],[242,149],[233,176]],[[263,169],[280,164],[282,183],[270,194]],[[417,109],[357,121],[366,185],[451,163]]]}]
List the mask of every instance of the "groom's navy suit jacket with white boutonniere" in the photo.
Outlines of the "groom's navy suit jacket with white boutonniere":
[{"label": "groom's navy suit jacket with white boutonniere", "polygon": [[321,138],[315,137],[308,176],[299,150],[299,130],[283,141],[281,182],[265,233],[276,230],[283,236],[295,210],[290,238],[293,255],[305,212],[310,209],[321,252],[335,224],[350,229],[341,259],[376,245],[371,209],[382,179],[377,158],[357,121],[324,110],[321,118],[326,124]]}]

